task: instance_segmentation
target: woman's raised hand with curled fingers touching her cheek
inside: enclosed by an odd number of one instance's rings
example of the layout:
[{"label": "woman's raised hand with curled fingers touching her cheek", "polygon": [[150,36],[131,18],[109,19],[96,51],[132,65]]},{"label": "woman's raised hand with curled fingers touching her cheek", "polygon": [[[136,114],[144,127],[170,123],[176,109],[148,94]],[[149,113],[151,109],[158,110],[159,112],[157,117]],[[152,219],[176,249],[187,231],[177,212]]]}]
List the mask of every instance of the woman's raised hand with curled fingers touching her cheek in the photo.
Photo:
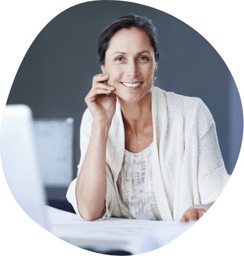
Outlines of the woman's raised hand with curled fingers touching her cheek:
[{"label": "woman's raised hand with curled fingers touching her cheek", "polygon": [[93,77],[93,86],[87,94],[85,102],[94,121],[108,121],[110,124],[115,114],[117,98],[113,93],[115,88],[104,83],[108,78],[108,74],[97,74]]}]

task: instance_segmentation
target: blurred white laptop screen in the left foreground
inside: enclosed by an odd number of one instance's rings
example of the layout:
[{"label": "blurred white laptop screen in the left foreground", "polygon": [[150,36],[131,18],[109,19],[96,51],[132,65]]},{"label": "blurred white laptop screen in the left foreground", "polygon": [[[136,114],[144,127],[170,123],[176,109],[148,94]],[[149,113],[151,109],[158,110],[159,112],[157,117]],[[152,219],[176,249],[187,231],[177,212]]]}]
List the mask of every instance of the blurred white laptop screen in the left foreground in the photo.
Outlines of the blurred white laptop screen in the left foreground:
[{"label": "blurred white laptop screen in the left foreground", "polygon": [[48,230],[45,193],[39,171],[32,111],[6,105],[1,125],[1,162],[7,185],[22,210]]}]

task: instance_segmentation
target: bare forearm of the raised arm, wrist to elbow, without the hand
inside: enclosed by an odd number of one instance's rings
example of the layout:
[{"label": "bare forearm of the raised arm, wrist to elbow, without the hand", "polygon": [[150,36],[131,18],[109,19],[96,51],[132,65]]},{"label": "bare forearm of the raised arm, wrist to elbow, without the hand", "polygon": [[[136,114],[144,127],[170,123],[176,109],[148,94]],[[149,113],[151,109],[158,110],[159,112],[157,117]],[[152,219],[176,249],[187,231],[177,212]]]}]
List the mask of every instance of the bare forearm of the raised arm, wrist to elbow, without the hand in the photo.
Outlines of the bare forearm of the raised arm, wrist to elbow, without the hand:
[{"label": "bare forearm of the raised arm, wrist to elbow, without the hand", "polygon": [[93,122],[89,146],[76,183],[80,215],[96,220],[104,210],[106,197],[106,144],[111,124]]}]

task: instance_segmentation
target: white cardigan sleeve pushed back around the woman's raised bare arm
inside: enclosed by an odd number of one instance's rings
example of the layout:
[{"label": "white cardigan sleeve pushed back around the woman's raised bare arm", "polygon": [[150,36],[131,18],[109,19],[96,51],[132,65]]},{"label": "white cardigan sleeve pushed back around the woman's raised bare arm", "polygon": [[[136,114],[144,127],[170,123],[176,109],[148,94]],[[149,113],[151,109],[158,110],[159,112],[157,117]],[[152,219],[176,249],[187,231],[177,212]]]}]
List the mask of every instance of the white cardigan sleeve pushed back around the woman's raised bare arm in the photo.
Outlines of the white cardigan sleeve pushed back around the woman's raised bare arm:
[{"label": "white cardigan sleeve pushed back around the woman's raised bare arm", "polygon": [[[82,124],[80,125],[80,162],[78,164],[78,172],[77,172],[77,178],[79,176],[80,173],[80,169],[82,168],[85,156],[86,156],[86,152],[87,152],[87,148],[89,145],[89,141],[90,141],[90,134],[92,132],[92,123],[93,123],[93,117],[89,111],[89,109],[87,108],[86,111],[84,112],[83,118],[82,118]],[[105,200],[105,207],[103,212],[101,213],[101,215],[99,216],[99,218],[97,220],[104,220],[104,217],[107,214],[108,211],[108,205],[110,204],[110,190],[111,190],[111,186],[113,186],[113,181],[111,181],[111,177],[109,175],[109,167],[106,164],[106,181],[107,181],[107,192],[106,192],[106,200]],[[74,207],[74,210],[76,212],[76,214],[82,219],[83,217],[80,215],[79,210],[78,210],[78,205],[77,205],[77,198],[76,198],[76,182],[77,182],[77,178],[75,178],[72,183],[70,183],[69,187],[68,187],[68,191],[66,194],[66,198],[68,200],[68,202],[70,204],[72,204],[72,206]]]}]

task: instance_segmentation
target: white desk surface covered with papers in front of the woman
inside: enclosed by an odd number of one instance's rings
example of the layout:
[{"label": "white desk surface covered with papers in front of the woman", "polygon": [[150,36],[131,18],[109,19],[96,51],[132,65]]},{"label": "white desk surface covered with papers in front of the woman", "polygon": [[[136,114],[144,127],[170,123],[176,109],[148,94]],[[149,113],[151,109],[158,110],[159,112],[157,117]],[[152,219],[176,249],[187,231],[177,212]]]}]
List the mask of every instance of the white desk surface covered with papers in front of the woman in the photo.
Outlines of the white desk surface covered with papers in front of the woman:
[{"label": "white desk surface covered with papers in front of the woman", "polygon": [[129,220],[105,217],[103,221],[83,221],[74,213],[46,206],[50,232],[58,238],[99,252],[125,250],[146,253],[175,240],[195,222]]}]

